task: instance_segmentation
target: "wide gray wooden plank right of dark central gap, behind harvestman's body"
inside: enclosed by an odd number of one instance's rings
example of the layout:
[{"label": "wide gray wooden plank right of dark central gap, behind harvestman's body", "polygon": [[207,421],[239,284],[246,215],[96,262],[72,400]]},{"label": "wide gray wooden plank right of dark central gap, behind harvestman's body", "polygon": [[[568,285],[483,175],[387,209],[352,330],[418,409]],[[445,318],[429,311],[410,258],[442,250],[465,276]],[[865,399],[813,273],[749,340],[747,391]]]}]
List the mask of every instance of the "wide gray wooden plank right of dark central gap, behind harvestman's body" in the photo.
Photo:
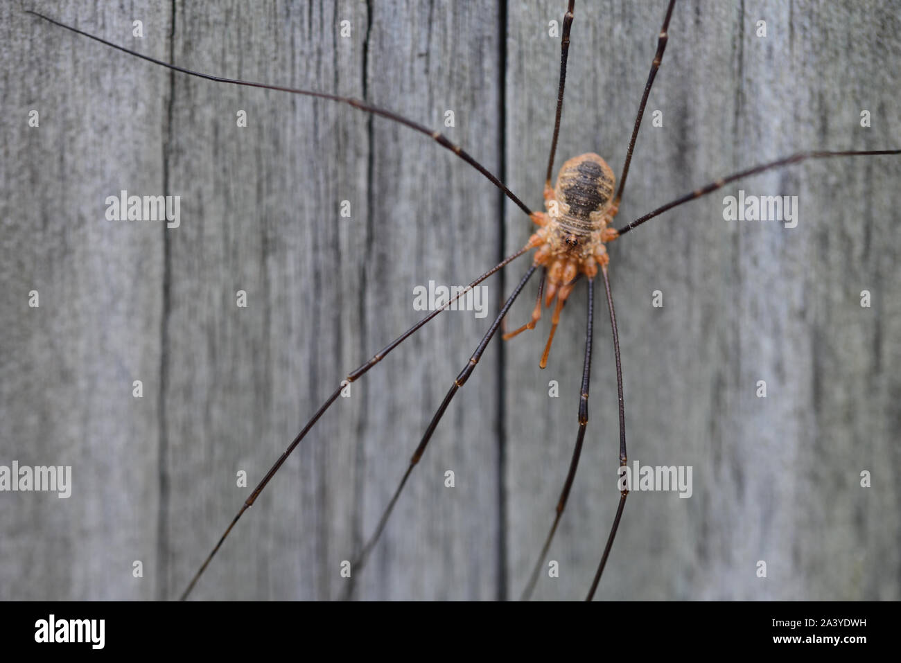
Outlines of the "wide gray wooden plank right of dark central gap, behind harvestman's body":
[{"label": "wide gray wooden plank right of dark central gap, behind harvestman's body", "polygon": [[[511,6],[508,182],[539,204],[561,3]],[[579,4],[560,158],[622,167],[665,3]],[[744,13],[740,7],[744,7]],[[755,35],[767,22],[767,37]],[[620,218],[718,176],[805,149],[899,147],[901,53],[889,4],[679,3]],[[860,128],[860,110],[873,114]],[[663,126],[651,126],[661,110]],[[894,231],[901,159],[804,164],[687,204],[611,249],[631,459],[693,466],[694,495],[632,495],[605,598],[896,598],[899,409]],[[723,196],[797,195],[794,229],[727,223]],[[508,205],[508,207],[510,207]],[[508,246],[527,223],[511,208]],[[873,306],[860,307],[869,289]],[[664,306],[651,305],[652,292]],[[603,289],[600,290],[603,292]],[[542,340],[511,346],[506,412],[511,586],[551,524],[577,431],[585,289],[539,376]],[[524,313],[520,313],[522,316]],[[538,595],[575,597],[618,499],[615,374],[603,297],[587,445]],[[543,332],[542,332],[543,335]],[[547,382],[560,380],[560,398]],[[765,379],[768,397],[755,396]],[[860,471],[873,487],[860,487]],[[537,513],[544,513],[543,519]],[[769,577],[755,576],[757,560]]]}]

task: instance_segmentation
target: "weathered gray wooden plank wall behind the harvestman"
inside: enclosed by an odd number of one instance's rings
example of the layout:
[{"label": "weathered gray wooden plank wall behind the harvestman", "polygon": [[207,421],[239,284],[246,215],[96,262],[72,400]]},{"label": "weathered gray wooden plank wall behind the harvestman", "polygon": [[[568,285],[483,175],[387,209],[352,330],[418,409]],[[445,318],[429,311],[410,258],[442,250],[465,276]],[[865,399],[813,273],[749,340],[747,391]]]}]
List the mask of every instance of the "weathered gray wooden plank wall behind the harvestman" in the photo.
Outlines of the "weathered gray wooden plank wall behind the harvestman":
[{"label": "weathered gray wooden plank wall behind the harvestman", "polygon": [[[188,68],[365,97],[441,129],[538,208],[560,59],[548,23],[563,5],[0,7],[0,464],[71,465],[74,482],[68,499],[0,493],[0,598],[176,597],[341,377],[423,315],[414,286],[467,283],[532,230],[487,180],[404,127],[170,76],[23,8]],[[558,165],[596,151],[619,174],[663,5],[578,3]],[[618,219],[796,150],[899,147],[898,10],[680,2]],[[630,459],[691,466],[693,495],[629,497],[600,597],[899,597],[899,176],[896,157],[805,163],[611,247]],[[723,196],[740,188],[797,195],[797,227],[725,222]],[[181,195],[180,227],[105,220],[105,197],[122,189]],[[487,281],[491,312],[524,260]],[[537,280],[511,325],[527,319]],[[355,574],[355,598],[518,596],[576,436],[585,299],[582,283],[544,371],[547,320],[489,347]],[[591,420],[545,599],[585,594],[617,500],[600,283],[596,303]],[[341,560],[375,528],[491,316],[442,313],[351,386],[196,598],[341,595]],[[236,486],[240,470],[250,487]]]}]

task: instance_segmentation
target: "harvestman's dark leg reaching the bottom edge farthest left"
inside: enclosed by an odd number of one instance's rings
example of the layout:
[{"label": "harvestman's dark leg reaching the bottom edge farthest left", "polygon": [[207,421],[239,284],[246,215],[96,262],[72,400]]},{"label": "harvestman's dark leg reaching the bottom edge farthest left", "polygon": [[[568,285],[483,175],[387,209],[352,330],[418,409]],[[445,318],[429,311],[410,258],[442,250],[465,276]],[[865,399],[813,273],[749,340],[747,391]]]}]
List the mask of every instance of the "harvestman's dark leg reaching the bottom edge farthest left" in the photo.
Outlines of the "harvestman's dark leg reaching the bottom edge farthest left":
[{"label": "harvestman's dark leg reaching the bottom edge farthest left", "polygon": [[[239,519],[244,514],[244,512],[247,511],[248,509],[250,509],[251,506],[253,506],[253,503],[256,502],[257,497],[259,497],[259,494],[263,492],[263,489],[266,487],[266,485],[269,483],[269,481],[272,479],[272,477],[275,476],[276,472],[278,472],[278,468],[281,468],[281,466],[285,463],[288,456],[291,455],[291,452],[296,449],[296,446],[300,443],[300,440],[303,440],[305,438],[306,433],[308,433],[313,428],[314,424],[319,421],[319,418],[325,413],[326,410],[329,409],[329,407],[331,407],[332,403],[334,403],[335,400],[337,400],[338,395],[341,394],[341,389],[343,389],[347,383],[353,382],[354,380],[361,377],[364,373],[366,373],[369,370],[369,368],[372,368],[376,364],[378,364],[379,361],[381,361],[382,359],[385,359],[388,352],[390,352],[391,350],[394,350],[398,345],[400,345],[401,343],[406,341],[408,338],[413,336],[413,334],[415,332],[419,331],[427,322],[429,322],[430,320],[432,320],[432,318],[434,318],[436,315],[438,315],[438,313],[441,313],[441,311],[444,311],[448,306],[450,306],[455,301],[460,299],[460,297],[462,297],[463,295],[466,295],[466,293],[468,293],[469,290],[471,290],[475,286],[478,286],[479,283],[484,281],[487,277],[490,277],[496,271],[500,270],[501,268],[504,268],[506,265],[513,262],[514,259],[517,259],[520,256],[522,256],[523,253],[525,253],[529,249],[530,249],[530,247],[526,246],[523,249],[516,251],[513,255],[508,256],[507,258],[503,259],[501,262],[499,262],[497,265],[495,265],[495,267],[488,269],[488,271],[485,272],[485,274],[478,277],[475,281],[470,283],[469,286],[466,286],[465,288],[463,288],[463,291],[460,293],[460,295],[453,297],[447,304],[444,304],[443,306],[441,306],[441,308],[435,309],[434,311],[432,311],[432,313],[429,313],[428,315],[426,315],[422,320],[420,320],[419,322],[416,322],[412,327],[410,327],[410,329],[408,329],[406,332],[404,332],[403,334],[398,336],[394,341],[391,341],[390,343],[388,343],[387,346],[385,346],[382,350],[379,350],[372,357],[372,359],[369,359],[369,361],[367,361],[365,364],[362,364],[359,368],[357,368],[356,370],[351,372],[350,375],[348,375],[348,377],[346,377],[345,380],[343,380],[341,382],[341,385],[339,385],[338,388],[336,388],[334,390],[334,392],[332,392],[332,395],[330,395],[328,397],[328,399],[326,399],[326,401],[325,401],[325,403],[323,403],[322,407],[320,407],[316,411],[316,413],[313,415],[313,418],[310,419],[310,421],[306,422],[306,425],[304,426],[303,430],[300,431],[299,433],[297,433],[296,438],[287,446],[287,449],[285,450],[285,452],[278,458],[278,460],[275,462],[275,464],[271,468],[269,468],[269,471],[266,473],[266,476],[262,478],[262,480],[259,482],[257,487],[253,489],[253,492],[250,494],[250,497],[248,497],[247,500],[244,502],[244,504],[241,505],[241,509],[238,511],[238,513],[232,519],[231,524],[229,524],[229,526],[226,528],[222,537],[219,539],[218,543],[216,543],[214,549],[210,552],[209,555],[207,555],[207,557],[206,557],[204,563],[201,565],[201,567],[199,569],[197,569],[196,574],[191,579],[191,582],[188,584],[185,591],[182,593],[182,595],[179,599],[180,601],[184,601],[185,599],[187,599],[187,596],[191,593],[191,590],[194,589],[194,586],[197,584],[197,581],[203,575],[204,571],[206,570],[206,567],[209,566],[210,562],[213,560],[216,552],[218,552],[219,549],[222,548],[225,538],[229,535],[229,532],[232,531],[232,527],[234,527],[235,523],[239,521]],[[532,268],[532,269],[534,269],[534,268]],[[530,271],[530,274],[531,273],[532,272]],[[518,291],[517,291],[517,293],[518,293]]]}]

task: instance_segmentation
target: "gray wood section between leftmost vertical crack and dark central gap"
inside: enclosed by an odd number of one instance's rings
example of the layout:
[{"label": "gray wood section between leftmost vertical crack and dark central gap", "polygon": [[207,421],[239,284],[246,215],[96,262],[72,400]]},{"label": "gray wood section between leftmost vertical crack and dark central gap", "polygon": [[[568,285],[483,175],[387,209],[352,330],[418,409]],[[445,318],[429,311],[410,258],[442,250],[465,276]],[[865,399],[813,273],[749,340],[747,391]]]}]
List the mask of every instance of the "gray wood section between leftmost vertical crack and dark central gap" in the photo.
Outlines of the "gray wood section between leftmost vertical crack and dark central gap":
[{"label": "gray wood section between leftmost vertical crack and dark central gap", "polygon": [[[496,135],[496,123],[464,122],[467,113],[496,113],[496,95],[480,92],[495,66],[490,59],[452,64],[458,52],[469,57],[481,48],[490,27],[447,9],[373,9],[369,30],[359,3],[279,7],[249,25],[241,21],[243,30],[259,32],[229,31],[221,48],[224,26],[237,15],[186,15],[180,23],[189,47],[176,59],[366,95],[427,124],[440,125],[445,108],[460,109],[460,129],[449,132],[455,140],[478,146],[480,132]],[[350,21],[350,38],[340,36],[342,20]],[[347,106],[195,81],[178,81],[179,97],[187,104],[177,106],[173,181],[190,192],[204,221],[173,235],[172,244],[167,568],[178,586],[248,494],[234,488],[235,470],[246,468],[255,483],[341,377],[421,316],[412,307],[414,285],[477,272],[494,259],[499,232],[488,230],[478,250],[461,241],[473,218],[496,209],[492,192],[483,186],[487,195],[468,206],[478,175],[405,128],[370,124]],[[245,106],[259,119],[237,130],[233,115]],[[210,132],[211,125],[221,129]],[[496,150],[484,156],[497,160]],[[344,200],[350,218],[340,216]],[[238,288],[258,303],[236,309]],[[338,595],[341,561],[374,529],[423,419],[466,360],[476,322],[471,314],[448,316],[352,386],[350,399],[323,418],[241,522],[198,596]],[[449,335],[454,341],[442,341]],[[188,365],[178,359],[190,357],[196,360]],[[495,569],[470,568],[469,547],[489,560],[496,555],[495,394],[496,376],[488,372],[449,415],[359,595],[493,595]],[[198,476],[205,459],[215,459],[213,471]],[[460,473],[460,497],[451,501],[443,499],[445,468]],[[482,505],[484,519],[473,518]]]}]

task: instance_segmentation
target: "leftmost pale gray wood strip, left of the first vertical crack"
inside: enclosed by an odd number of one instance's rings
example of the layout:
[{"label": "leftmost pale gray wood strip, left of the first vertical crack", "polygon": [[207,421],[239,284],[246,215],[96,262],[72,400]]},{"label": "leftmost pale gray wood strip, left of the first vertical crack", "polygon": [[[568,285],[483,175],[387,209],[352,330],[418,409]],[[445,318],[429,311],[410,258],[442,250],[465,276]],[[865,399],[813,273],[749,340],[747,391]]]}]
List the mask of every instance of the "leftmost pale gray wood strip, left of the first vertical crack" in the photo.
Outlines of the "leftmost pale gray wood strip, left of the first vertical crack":
[{"label": "leftmost pale gray wood strip, left of the first vertical crack", "polygon": [[[47,11],[131,30],[131,16],[105,3]],[[99,67],[97,50],[17,3],[0,13],[0,465],[72,468],[67,499],[0,494],[0,597],[152,598],[161,230],[104,213],[121,189],[161,191],[167,78]],[[165,41],[147,49],[164,57]],[[144,580],[132,578],[134,560]]]}]

